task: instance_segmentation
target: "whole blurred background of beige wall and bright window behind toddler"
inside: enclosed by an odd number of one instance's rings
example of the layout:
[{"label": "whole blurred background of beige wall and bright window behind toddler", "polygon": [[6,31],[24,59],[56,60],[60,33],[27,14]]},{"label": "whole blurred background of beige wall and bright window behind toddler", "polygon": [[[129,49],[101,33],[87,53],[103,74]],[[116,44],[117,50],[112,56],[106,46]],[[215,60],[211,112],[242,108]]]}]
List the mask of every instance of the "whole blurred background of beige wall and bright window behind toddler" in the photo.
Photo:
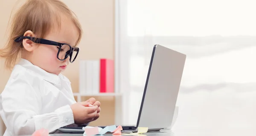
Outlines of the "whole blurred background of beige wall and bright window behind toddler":
[{"label": "whole blurred background of beige wall and bright window behind toddler", "polygon": [[[152,49],[161,44],[187,55],[175,134],[255,135],[254,0],[62,1],[84,31],[79,61],[64,75],[76,100],[95,97],[102,103],[101,117],[90,125],[136,124]],[[19,4],[0,0],[0,47],[12,8]],[[81,61],[102,58],[114,61],[113,91],[81,92]],[[0,59],[0,91],[10,75],[3,64]],[[5,126],[0,126],[3,133]]]}]

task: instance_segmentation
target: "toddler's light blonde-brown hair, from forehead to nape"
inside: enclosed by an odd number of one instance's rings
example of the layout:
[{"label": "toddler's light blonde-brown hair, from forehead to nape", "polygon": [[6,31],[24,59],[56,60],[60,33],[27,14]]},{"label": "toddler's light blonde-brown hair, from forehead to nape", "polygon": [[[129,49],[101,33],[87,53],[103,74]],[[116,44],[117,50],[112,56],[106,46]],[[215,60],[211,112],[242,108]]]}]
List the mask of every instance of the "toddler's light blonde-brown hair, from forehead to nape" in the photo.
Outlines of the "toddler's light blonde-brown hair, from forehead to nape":
[{"label": "toddler's light blonde-brown hair, from forehead to nape", "polygon": [[60,12],[72,19],[79,32],[76,45],[80,42],[82,35],[81,25],[76,15],[66,4],[60,0],[27,0],[14,15],[6,46],[0,49],[0,58],[6,58],[5,67],[7,69],[14,67],[23,48],[22,42],[15,42],[14,40],[23,36],[28,30],[35,33],[37,38],[43,38],[56,23],[60,27]]}]

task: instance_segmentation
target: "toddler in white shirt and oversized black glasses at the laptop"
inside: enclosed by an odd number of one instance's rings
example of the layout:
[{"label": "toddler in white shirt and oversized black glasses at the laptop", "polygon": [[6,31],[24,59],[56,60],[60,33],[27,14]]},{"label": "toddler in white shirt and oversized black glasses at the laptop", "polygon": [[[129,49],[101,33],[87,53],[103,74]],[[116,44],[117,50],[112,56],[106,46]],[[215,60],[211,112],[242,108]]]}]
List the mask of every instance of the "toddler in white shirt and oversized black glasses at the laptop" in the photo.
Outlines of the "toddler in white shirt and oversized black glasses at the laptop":
[{"label": "toddler in white shirt and oversized black glasses at the laptop", "polygon": [[[99,118],[94,98],[76,103],[70,81],[61,74],[79,53],[81,26],[59,0],[27,0],[15,14],[0,57],[12,74],[0,95],[4,136],[55,132]],[[93,106],[89,106],[89,104]]]}]

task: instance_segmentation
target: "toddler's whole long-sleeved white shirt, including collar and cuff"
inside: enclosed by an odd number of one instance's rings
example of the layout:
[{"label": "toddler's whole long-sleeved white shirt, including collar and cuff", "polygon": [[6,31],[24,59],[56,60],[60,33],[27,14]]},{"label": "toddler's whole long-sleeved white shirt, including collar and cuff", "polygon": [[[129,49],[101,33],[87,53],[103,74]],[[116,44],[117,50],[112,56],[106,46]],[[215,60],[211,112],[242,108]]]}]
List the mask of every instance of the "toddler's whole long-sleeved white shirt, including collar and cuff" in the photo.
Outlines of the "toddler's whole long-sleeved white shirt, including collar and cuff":
[{"label": "toddler's whole long-sleeved white shirt, including collar and cuff", "polygon": [[32,134],[40,128],[52,132],[73,124],[70,105],[76,101],[70,84],[64,75],[51,74],[21,59],[0,94],[4,136]]}]

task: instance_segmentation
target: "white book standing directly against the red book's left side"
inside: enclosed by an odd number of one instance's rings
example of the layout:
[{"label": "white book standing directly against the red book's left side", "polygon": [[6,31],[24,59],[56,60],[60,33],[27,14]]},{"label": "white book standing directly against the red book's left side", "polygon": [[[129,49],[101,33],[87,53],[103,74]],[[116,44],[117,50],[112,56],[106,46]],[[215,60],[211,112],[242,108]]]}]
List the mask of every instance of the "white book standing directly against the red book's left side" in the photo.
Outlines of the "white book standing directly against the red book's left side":
[{"label": "white book standing directly against the red book's left side", "polygon": [[93,94],[99,94],[99,67],[100,61],[95,60],[93,61]]}]

